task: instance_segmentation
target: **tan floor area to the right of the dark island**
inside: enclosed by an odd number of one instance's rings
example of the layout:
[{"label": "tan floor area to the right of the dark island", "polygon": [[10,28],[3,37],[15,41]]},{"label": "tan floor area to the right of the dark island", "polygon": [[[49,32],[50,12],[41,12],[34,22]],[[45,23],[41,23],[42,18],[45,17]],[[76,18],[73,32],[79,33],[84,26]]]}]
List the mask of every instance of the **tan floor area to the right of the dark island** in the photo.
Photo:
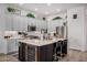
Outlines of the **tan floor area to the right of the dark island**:
[{"label": "tan floor area to the right of the dark island", "polygon": [[68,50],[67,56],[62,58],[61,62],[87,62],[87,52]]}]

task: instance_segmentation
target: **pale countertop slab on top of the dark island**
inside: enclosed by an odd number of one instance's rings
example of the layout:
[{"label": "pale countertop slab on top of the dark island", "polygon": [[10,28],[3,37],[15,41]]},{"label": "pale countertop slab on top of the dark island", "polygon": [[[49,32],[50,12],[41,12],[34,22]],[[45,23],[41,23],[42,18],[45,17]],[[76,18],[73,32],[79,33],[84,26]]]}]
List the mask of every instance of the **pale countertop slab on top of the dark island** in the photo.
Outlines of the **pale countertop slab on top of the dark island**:
[{"label": "pale countertop slab on top of the dark island", "polygon": [[57,41],[63,41],[63,40],[65,40],[65,39],[53,39],[53,40],[36,40],[36,39],[30,40],[30,39],[25,39],[25,40],[19,40],[19,42],[35,45],[35,46],[43,46],[43,45],[53,44]]}]

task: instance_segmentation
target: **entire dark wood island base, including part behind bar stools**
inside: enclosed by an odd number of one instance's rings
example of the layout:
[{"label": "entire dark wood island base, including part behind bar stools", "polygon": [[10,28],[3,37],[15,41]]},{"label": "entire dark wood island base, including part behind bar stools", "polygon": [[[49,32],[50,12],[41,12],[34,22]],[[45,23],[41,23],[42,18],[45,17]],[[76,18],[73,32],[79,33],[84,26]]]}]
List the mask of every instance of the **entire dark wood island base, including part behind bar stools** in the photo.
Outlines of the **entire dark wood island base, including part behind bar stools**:
[{"label": "entire dark wood island base, including part behind bar stools", "polygon": [[[64,42],[64,43],[63,43]],[[64,40],[61,42],[62,44],[62,54],[67,54],[67,41]],[[53,62],[54,61],[54,54],[57,53],[58,42],[55,42],[53,44],[47,44],[43,46],[35,46],[31,44],[26,44],[23,42],[19,42],[19,61],[21,62]],[[56,50],[55,50],[56,48]]]}]

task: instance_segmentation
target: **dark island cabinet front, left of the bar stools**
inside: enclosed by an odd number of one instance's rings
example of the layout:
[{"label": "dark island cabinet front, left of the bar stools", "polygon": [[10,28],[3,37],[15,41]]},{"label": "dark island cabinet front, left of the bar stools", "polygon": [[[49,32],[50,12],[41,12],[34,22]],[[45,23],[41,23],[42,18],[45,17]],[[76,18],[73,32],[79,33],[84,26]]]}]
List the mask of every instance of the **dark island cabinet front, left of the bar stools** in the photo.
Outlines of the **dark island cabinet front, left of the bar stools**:
[{"label": "dark island cabinet front, left of the bar stools", "polygon": [[20,43],[19,59],[21,62],[52,62],[53,44],[34,46],[25,43]]}]

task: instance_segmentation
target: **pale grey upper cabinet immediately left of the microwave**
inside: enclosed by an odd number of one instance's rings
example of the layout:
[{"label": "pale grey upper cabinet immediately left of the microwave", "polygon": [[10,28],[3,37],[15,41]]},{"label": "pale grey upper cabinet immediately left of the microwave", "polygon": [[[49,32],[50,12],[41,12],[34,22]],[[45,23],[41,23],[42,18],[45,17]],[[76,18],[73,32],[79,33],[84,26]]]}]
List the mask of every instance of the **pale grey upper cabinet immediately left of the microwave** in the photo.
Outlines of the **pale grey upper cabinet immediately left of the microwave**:
[{"label": "pale grey upper cabinet immediately left of the microwave", "polygon": [[20,15],[13,15],[13,30],[28,31],[28,19]]}]

